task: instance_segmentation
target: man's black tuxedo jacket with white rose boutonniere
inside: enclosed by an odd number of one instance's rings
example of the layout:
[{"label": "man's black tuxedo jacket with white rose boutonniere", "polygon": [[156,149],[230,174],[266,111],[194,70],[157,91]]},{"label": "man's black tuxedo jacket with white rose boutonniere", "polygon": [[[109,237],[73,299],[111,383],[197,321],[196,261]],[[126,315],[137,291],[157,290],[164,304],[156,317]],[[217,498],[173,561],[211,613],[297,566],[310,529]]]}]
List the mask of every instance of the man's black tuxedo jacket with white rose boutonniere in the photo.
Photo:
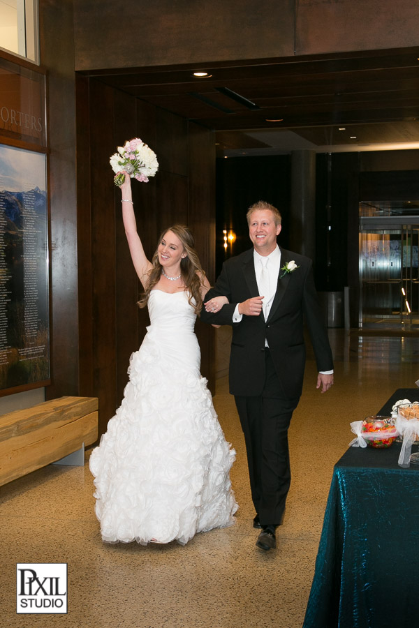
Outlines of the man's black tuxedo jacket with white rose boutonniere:
[{"label": "man's black tuxedo jacket with white rose boutonniere", "polygon": [[305,364],[304,318],[318,371],[331,371],[333,368],[332,351],[325,317],[318,304],[311,260],[281,248],[281,267],[291,260],[295,261],[298,268],[284,275],[284,271],[279,271],[277,292],[267,320],[260,313],[259,316],[244,315],[241,322],[233,323],[237,303],[259,294],[253,248],[224,262],[216,285],[205,296],[207,301],[223,294],[230,301],[215,314],[203,308],[200,316],[208,323],[233,325],[229,373],[230,393],[233,395],[262,394],[266,338],[285,394],[289,398],[300,397]]}]

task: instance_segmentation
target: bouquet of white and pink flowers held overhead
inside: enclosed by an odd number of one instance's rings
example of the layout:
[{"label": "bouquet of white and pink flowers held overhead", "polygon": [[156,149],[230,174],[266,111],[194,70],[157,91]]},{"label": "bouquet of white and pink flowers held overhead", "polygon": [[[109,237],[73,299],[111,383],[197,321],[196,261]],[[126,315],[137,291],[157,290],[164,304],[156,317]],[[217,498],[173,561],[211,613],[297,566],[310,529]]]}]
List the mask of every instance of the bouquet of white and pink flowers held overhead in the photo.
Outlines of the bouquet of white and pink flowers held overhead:
[{"label": "bouquet of white and pink flowers held overhead", "polygon": [[154,177],[159,168],[156,154],[139,137],[119,146],[118,152],[110,157],[109,163],[116,173],[115,186],[122,186],[124,183],[123,171],[128,172],[131,179],[147,183],[148,177]]}]

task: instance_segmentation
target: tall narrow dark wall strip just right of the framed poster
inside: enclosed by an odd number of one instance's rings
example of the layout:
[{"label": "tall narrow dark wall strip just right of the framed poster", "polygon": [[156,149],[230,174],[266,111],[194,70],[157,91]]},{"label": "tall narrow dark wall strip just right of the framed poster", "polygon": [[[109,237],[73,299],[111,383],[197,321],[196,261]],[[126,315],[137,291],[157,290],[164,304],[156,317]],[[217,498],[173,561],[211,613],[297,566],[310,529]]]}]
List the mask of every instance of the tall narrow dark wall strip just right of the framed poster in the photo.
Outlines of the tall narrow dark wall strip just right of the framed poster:
[{"label": "tall narrow dark wall strip just right of the framed poster", "polygon": [[75,184],[73,2],[40,1],[41,61],[47,68],[51,225],[51,371],[47,399],[78,394],[78,267]]}]

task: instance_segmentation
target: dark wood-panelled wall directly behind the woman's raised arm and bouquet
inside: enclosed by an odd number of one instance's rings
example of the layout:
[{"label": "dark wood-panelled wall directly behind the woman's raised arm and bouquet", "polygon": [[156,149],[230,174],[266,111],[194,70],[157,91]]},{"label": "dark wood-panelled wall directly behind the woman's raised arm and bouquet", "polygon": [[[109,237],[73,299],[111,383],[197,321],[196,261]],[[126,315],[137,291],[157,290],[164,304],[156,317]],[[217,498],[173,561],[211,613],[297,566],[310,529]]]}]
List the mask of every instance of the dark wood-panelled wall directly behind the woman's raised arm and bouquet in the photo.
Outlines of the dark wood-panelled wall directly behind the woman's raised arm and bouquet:
[{"label": "dark wood-panelled wall directly behind the woman's raised arm and bouquet", "polygon": [[[79,263],[80,273],[86,269],[89,274],[80,278],[80,308],[87,304],[86,313],[80,313],[80,338],[88,344],[80,352],[80,373],[86,373],[80,388],[84,394],[98,396],[99,431],[103,433],[121,402],[129,357],[149,324],[147,309],[137,306],[140,283],[126,243],[121,193],[113,184],[109,157],[118,145],[135,136],[156,151],[156,177],[147,184],[133,181],[135,218],[147,256],[152,257],[161,231],[175,223],[189,224],[196,232],[203,265],[213,276],[214,137],[207,129],[188,128],[183,119],[100,80],[82,78],[77,94],[82,125],[78,134]],[[89,167],[84,167],[88,154]],[[199,335],[203,373],[211,378],[212,328],[202,325]]]}]

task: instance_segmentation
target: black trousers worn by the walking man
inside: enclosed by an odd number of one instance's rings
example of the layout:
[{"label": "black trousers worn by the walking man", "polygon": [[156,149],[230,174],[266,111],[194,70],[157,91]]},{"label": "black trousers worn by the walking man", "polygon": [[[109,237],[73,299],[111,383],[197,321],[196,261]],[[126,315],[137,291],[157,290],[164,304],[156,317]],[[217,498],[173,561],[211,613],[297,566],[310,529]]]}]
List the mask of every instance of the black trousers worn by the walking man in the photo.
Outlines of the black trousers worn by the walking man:
[{"label": "black trousers worn by the walking man", "polygon": [[265,350],[265,387],[260,396],[235,396],[247,449],[251,497],[262,525],[279,525],[291,483],[288,427],[299,398],[287,398]]}]

